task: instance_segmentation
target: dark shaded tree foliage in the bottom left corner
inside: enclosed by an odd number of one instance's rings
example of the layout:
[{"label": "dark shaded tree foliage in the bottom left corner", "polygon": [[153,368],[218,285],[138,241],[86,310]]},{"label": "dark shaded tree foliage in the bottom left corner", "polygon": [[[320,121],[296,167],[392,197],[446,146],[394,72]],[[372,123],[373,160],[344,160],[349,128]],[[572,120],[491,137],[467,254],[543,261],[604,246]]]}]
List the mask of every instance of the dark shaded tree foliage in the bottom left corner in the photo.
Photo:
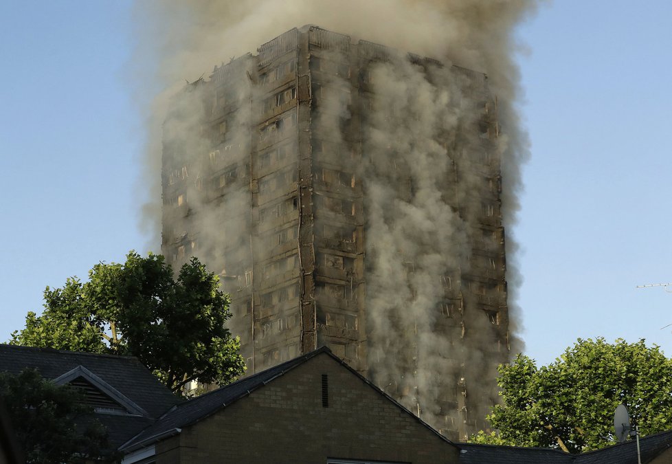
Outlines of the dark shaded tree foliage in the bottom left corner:
[{"label": "dark shaded tree foliage in the bottom left corner", "polygon": [[104,428],[80,404],[80,394],[34,369],[0,373],[0,396],[27,463],[85,463],[107,446]]}]

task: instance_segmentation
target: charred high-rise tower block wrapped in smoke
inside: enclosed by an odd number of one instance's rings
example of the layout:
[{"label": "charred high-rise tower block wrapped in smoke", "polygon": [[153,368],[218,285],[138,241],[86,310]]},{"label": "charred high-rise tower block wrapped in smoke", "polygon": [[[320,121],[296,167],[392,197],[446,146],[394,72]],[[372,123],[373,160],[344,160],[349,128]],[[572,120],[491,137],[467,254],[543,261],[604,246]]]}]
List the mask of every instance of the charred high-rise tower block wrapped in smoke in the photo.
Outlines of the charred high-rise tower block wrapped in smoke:
[{"label": "charred high-rise tower block wrapped in smoke", "polygon": [[164,123],[162,252],[232,296],[248,373],[326,345],[453,439],[508,360],[486,76],[305,26],[215,67]]}]

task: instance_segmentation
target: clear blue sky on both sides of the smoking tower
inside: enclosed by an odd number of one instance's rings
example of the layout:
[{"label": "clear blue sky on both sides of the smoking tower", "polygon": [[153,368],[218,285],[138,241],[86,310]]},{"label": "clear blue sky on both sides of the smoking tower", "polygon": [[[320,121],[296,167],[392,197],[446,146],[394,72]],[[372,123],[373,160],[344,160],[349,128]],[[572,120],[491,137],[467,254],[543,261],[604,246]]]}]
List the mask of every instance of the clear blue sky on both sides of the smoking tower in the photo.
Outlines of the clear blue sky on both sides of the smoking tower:
[{"label": "clear blue sky on both sides of the smoking tower", "polygon": [[[132,5],[0,2],[0,340],[41,311],[46,285],[148,251]],[[636,289],[672,282],[670,23],[669,1],[557,0],[519,28],[532,159],[507,233],[541,364],[600,335],[672,355],[672,294]]]}]

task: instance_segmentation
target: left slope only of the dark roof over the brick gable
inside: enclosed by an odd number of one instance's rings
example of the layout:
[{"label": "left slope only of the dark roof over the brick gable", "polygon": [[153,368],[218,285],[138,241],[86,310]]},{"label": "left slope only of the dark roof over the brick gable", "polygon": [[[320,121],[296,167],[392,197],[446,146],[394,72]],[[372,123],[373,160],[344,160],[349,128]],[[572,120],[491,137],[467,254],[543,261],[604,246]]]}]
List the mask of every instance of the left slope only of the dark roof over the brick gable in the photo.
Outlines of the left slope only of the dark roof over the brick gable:
[{"label": "left slope only of the dark roof over the brick gable", "polygon": [[137,437],[134,437],[123,445],[122,450],[137,448],[145,442],[153,441],[157,437],[165,437],[177,428],[201,421],[219,409],[229,406],[234,401],[249,395],[272,379],[283,375],[320,353],[329,353],[331,355],[331,351],[328,348],[322,347],[304,356],[295,357],[293,360],[278,364],[278,366],[271,367],[266,371],[240,379],[238,382],[234,382],[218,390],[190,399],[177,406],[177,408],[170,410],[164,417],[156,421],[153,426],[143,430]]}]

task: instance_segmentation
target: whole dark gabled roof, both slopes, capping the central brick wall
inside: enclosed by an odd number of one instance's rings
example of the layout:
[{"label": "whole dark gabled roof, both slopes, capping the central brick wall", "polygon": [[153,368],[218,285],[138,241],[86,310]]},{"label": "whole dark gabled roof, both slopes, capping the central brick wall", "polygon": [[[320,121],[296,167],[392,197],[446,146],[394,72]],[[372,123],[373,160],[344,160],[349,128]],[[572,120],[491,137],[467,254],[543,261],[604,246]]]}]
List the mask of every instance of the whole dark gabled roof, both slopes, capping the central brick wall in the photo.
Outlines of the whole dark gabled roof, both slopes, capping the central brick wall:
[{"label": "whole dark gabled roof, both slopes, capping the central brick wall", "polygon": [[357,373],[355,369],[351,368],[343,360],[334,355],[326,346],[322,346],[315,351],[311,351],[311,353],[295,357],[293,360],[278,364],[278,366],[271,367],[266,371],[245,377],[238,380],[238,382],[223,386],[218,390],[214,390],[212,392],[206,393],[205,395],[201,395],[200,397],[190,399],[189,401],[172,408],[166,413],[166,415],[156,421],[153,426],[146,428],[140,434],[138,434],[137,437],[133,437],[133,439],[127,443],[124,443],[124,445],[120,447],[120,450],[124,452],[130,452],[153,443],[154,441],[158,441],[159,439],[178,434],[181,432],[181,428],[190,426],[193,423],[197,423],[221,410],[222,408],[230,406],[235,401],[238,401],[238,399],[246,397],[254,390],[269,384],[269,382],[272,382],[273,379],[286,374],[293,368],[304,364],[308,360],[311,360],[313,357],[320,354],[325,354],[331,357],[333,360],[341,364],[341,366],[350,371],[350,373],[354,374],[359,379],[361,379],[361,381],[370,386],[370,388],[373,388],[377,391],[377,393],[383,395],[386,399],[392,401],[392,403],[394,403],[396,406],[407,412],[408,415],[416,419],[416,421],[425,426],[430,432],[436,434],[437,437],[440,437],[440,439],[443,439],[447,443],[452,443],[446,437],[434,430],[434,428],[427,425],[427,423],[419,419],[412,412],[399,404],[399,402],[390,397],[390,395],[383,392],[383,390],[372,384],[368,379]]}]

